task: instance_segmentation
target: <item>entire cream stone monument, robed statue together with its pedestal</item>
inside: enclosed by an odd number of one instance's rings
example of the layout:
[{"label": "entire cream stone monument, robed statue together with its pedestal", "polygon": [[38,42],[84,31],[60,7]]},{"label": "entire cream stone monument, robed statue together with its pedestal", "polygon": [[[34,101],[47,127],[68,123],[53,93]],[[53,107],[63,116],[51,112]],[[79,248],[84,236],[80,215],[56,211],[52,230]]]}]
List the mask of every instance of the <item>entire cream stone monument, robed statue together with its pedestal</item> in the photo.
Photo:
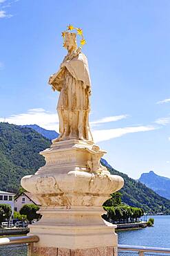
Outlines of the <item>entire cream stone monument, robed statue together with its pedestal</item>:
[{"label": "entire cream stone monument, robed statue together with its pedestal", "polygon": [[[76,34],[65,33],[67,56],[59,72],[50,77],[60,91],[57,110],[60,136],[40,152],[45,165],[21,185],[41,202],[43,216],[30,225],[38,235],[34,253],[40,255],[110,256],[118,244],[114,225],[101,218],[101,205],[123,187],[123,178],[111,175],[100,158],[106,153],[94,144],[89,129],[91,83],[87,58],[76,47]],[[59,248],[59,250],[57,249]],[[62,249],[65,248],[65,249]]]}]

